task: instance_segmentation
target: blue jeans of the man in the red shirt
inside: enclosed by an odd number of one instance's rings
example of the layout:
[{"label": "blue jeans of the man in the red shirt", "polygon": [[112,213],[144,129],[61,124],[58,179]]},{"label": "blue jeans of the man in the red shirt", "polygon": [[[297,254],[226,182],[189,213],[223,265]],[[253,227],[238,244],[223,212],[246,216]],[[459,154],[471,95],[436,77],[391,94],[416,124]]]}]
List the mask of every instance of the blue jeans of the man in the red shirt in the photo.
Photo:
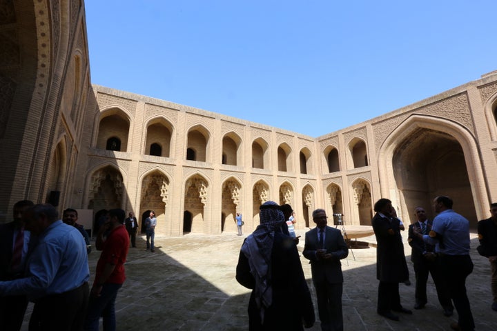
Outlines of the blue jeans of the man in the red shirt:
[{"label": "blue jeans of the man in the red shirt", "polygon": [[99,319],[104,318],[104,331],[115,331],[115,299],[122,284],[104,284],[100,297],[90,296],[86,311],[85,331],[99,331]]}]

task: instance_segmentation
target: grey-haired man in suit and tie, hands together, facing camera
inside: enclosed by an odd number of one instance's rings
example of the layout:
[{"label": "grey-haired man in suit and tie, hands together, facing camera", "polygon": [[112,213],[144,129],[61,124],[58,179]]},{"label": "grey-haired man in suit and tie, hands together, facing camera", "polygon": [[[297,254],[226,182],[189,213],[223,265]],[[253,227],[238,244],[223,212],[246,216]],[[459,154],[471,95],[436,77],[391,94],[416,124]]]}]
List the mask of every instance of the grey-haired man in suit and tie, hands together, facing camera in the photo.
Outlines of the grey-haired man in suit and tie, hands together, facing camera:
[{"label": "grey-haired man in suit and tie, hands together, facing camera", "polygon": [[313,211],[316,228],[306,232],[304,257],[311,263],[318,312],[323,331],[343,331],[341,259],[349,255],[342,232],[327,226],[323,209]]}]

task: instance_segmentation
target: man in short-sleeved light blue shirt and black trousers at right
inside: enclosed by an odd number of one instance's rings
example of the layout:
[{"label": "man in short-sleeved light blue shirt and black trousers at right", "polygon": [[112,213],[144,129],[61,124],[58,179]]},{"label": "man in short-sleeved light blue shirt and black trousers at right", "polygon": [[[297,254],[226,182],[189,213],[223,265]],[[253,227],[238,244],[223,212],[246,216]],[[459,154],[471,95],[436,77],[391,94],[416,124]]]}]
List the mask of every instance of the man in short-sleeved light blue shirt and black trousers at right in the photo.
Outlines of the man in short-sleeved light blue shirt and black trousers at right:
[{"label": "man in short-sleeved light blue shirt and black trousers at right", "polygon": [[452,204],[447,196],[433,200],[433,208],[439,214],[433,219],[429,234],[422,235],[422,239],[438,243],[442,276],[459,315],[458,323],[451,324],[452,330],[473,331],[474,319],[466,293],[466,278],[473,272],[473,261],[469,257],[469,221],[454,212]]}]

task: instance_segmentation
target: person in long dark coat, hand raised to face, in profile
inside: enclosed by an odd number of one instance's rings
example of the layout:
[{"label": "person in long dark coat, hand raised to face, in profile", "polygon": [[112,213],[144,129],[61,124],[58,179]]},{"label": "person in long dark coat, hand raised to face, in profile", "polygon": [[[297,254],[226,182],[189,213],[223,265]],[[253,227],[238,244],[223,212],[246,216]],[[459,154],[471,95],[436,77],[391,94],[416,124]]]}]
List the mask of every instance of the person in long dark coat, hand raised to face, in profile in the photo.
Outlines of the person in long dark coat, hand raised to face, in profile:
[{"label": "person in long dark coat, hand raised to face, in profile", "polygon": [[387,319],[398,321],[394,312],[412,314],[400,304],[398,284],[409,278],[404,244],[400,235],[400,220],[391,216],[389,199],[380,199],[374,205],[375,216],[371,220],[376,236],[376,278],[378,285],[377,312]]}]

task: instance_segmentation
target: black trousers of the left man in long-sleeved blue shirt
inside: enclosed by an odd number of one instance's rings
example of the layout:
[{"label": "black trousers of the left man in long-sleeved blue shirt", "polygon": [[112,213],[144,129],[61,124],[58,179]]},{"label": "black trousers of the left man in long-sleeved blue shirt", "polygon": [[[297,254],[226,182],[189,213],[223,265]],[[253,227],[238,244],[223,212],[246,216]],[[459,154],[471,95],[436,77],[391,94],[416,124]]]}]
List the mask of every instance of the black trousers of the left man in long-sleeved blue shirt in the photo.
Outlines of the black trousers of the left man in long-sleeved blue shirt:
[{"label": "black trousers of the left man in long-sleeved blue shirt", "polygon": [[84,283],[68,292],[37,299],[30,331],[82,331],[90,289]]}]

